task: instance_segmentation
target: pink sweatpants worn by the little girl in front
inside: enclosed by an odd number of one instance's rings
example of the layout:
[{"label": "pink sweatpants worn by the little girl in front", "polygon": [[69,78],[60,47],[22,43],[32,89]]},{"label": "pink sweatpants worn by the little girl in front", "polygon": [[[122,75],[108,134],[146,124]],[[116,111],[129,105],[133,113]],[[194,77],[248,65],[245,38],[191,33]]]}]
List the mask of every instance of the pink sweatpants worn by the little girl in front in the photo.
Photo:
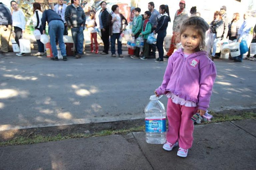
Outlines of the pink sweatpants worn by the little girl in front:
[{"label": "pink sweatpants worn by the little girl in front", "polygon": [[189,149],[193,143],[194,124],[191,117],[195,114],[196,107],[186,107],[168,99],[167,118],[168,131],[167,141],[171,144],[179,142],[179,147]]}]

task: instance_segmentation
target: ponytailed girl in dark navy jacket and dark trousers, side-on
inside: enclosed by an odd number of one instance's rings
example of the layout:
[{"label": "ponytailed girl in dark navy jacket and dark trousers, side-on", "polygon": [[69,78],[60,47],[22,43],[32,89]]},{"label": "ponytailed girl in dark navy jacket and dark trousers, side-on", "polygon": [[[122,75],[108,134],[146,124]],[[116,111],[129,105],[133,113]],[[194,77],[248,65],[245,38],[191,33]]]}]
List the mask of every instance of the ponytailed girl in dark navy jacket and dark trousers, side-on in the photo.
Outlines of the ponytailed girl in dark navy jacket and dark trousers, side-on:
[{"label": "ponytailed girl in dark navy jacket and dark trousers, side-on", "polygon": [[157,21],[156,30],[154,31],[155,34],[157,33],[156,47],[158,50],[159,58],[155,59],[155,62],[164,62],[164,38],[166,36],[168,22],[171,22],[168,5],[160,5],[159,13],[162,14],[162,16]]}]

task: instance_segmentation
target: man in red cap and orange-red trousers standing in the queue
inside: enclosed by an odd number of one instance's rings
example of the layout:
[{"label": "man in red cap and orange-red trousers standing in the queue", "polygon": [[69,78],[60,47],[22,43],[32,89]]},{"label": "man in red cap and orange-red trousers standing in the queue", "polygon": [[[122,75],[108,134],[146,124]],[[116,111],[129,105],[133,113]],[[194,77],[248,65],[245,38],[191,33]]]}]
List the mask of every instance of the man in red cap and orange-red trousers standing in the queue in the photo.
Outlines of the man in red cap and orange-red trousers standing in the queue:
[{"label": "man in red cap and orange-red trousers standing in the queue", "polygon": [[180,9],[178,9],[175,13],[174,20],[173,20],[173,27],[172,27],[172,40],[171,40],[171,45],[169,48],[169,51],[167,52],[167,55],[164,57],[169,57],[172,55],[174,49],[176,48],[176,38],[179,34],[180,26],[183,22],[183,20],[188,18],[188,13],[185,10],[186,3],[185,1],[180,1],[179,3]]}]

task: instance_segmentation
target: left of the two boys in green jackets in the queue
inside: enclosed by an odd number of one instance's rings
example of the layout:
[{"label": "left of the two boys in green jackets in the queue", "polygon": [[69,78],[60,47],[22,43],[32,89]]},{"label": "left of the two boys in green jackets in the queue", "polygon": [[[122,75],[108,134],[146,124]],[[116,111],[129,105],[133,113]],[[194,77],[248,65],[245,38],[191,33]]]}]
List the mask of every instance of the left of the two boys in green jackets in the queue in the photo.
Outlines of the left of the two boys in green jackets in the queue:
[{"label": "left of the two boys in green jackets in the queue", "polygon": [[[141,33],[141,26],[142,26],[142,16],[140,15],[140,8],[134,9],[134,18],[132,21],[132,36],[137,39]],[[134,55],[131,58],[139,58],[140,56],[140,48],[136,47],[134,50]]]}]

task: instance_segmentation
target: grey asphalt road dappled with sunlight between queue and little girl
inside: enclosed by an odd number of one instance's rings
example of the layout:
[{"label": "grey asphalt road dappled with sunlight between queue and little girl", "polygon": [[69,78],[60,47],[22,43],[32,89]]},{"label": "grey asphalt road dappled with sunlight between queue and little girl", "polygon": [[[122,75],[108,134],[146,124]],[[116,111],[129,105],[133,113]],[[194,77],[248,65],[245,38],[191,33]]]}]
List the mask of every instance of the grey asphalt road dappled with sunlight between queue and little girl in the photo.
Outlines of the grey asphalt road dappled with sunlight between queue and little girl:
[{"label": "grey asphalt road dappled with sunlight between queue and little girl", "polygon": [[[52,61],[0,56],[0,130],[144,118],[167,62],[86,54]],[[210,110],[256,108],[256,62],[215,59]],[[166,105],[167,98],[161,101]]]}]

